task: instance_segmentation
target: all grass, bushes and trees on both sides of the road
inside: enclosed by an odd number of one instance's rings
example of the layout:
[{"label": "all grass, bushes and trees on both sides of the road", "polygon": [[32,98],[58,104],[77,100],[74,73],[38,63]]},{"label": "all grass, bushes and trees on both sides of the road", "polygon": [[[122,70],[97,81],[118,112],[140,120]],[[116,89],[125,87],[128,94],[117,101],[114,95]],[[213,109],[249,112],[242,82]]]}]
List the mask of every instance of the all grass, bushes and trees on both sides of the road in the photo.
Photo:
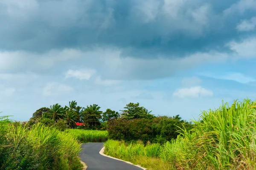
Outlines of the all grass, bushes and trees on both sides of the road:
[{"label": "all grass, bushes and trees on both sides of the road", "polygon": [[105,154],[148,170],[254,170],[256,102],[223,103],[192,122],[139,103],[118,113],[72,101],[41,108],[28,122],[1,116],[0,169],[79,170],[82,142],[105,142]]}]

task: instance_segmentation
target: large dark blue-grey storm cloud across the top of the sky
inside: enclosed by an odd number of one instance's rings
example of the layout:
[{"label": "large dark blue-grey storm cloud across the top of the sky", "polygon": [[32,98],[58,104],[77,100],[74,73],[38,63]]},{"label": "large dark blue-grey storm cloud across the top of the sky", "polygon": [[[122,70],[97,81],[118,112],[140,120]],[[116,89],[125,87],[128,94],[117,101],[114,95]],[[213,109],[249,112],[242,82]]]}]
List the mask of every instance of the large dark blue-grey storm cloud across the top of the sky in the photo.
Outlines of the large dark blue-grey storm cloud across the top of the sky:
[{"label": "large dark blue-grey storm cloud across the top of the sky", "polygon": [[240,20],[256,15],[254,8],[241,10],[250,8],[243,3],[237,7],[239,0],[2,1],[3,51],[113,45],[123,56],[145,58],[221,51],[227,50],[225,43],[248,34],[236,30]]}]

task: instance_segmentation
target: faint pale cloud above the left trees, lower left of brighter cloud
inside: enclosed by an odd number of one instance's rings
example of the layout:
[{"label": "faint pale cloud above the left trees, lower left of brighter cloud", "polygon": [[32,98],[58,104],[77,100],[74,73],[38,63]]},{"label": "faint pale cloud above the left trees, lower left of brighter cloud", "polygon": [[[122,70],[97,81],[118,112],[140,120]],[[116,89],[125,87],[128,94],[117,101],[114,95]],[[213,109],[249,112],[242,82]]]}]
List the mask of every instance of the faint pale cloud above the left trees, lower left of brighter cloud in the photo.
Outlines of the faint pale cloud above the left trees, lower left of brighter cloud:
[{"label": "faint pale cloud above the left trees, lower left of brighter cloud", "polygon": [[43,88],[43,96],[59,96],[72,92],[73,88],[58,82],[48,82]]}]

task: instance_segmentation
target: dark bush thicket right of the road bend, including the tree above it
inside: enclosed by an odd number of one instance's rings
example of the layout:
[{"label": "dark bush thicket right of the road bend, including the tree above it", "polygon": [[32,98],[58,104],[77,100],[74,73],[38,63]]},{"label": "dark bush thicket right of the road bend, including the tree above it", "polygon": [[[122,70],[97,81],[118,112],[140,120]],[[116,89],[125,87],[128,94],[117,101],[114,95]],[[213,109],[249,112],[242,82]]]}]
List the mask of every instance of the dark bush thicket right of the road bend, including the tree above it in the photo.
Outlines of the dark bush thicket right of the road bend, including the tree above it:
[{"label": "dark bush thicket right of the road bend, including the tree above it", "polygon": [[164,144],[176,139],[181,130],[190,130],[191,122],[176,116],[154,116],[139,104],[129,103],[122,111],[122,117],[108,121],[109,139]]}]

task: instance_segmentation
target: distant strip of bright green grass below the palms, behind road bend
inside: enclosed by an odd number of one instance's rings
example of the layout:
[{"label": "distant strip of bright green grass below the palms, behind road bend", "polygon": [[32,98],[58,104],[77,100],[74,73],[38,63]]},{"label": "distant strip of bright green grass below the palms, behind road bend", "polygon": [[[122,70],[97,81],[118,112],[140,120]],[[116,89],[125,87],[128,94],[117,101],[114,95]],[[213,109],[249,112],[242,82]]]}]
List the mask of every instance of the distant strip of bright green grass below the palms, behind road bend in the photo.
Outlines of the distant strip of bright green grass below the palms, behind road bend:
[{"label": "distant strip of bright green grass below the palms, behind road bend", "polygon": [[101,130],[68,129],[68,133],[75,136],[81,142],[105,142],[108,140],[108,132]]}]

